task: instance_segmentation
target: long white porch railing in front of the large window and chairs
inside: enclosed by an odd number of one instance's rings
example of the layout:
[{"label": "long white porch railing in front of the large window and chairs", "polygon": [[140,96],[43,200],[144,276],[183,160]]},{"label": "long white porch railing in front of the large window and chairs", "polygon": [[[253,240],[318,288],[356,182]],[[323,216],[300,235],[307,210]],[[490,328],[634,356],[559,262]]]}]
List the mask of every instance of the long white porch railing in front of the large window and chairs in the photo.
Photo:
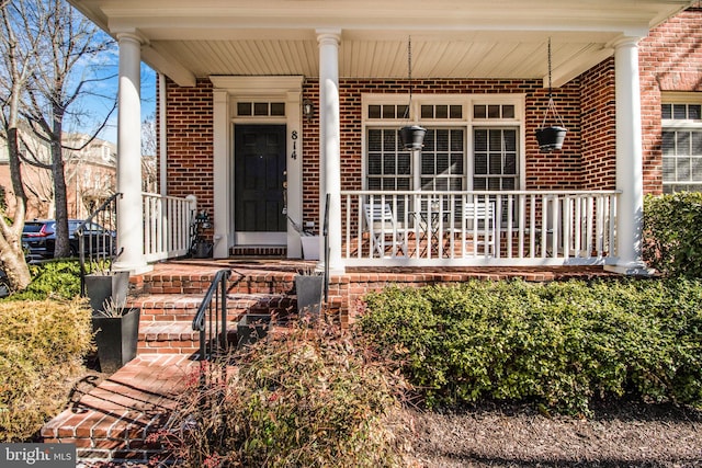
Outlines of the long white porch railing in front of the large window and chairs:
[{"label": "long white porch railing in front of the large window and chairs", "polygon": [[611,264],[618,195],[343,191],[342,258],[348,266]]}]

